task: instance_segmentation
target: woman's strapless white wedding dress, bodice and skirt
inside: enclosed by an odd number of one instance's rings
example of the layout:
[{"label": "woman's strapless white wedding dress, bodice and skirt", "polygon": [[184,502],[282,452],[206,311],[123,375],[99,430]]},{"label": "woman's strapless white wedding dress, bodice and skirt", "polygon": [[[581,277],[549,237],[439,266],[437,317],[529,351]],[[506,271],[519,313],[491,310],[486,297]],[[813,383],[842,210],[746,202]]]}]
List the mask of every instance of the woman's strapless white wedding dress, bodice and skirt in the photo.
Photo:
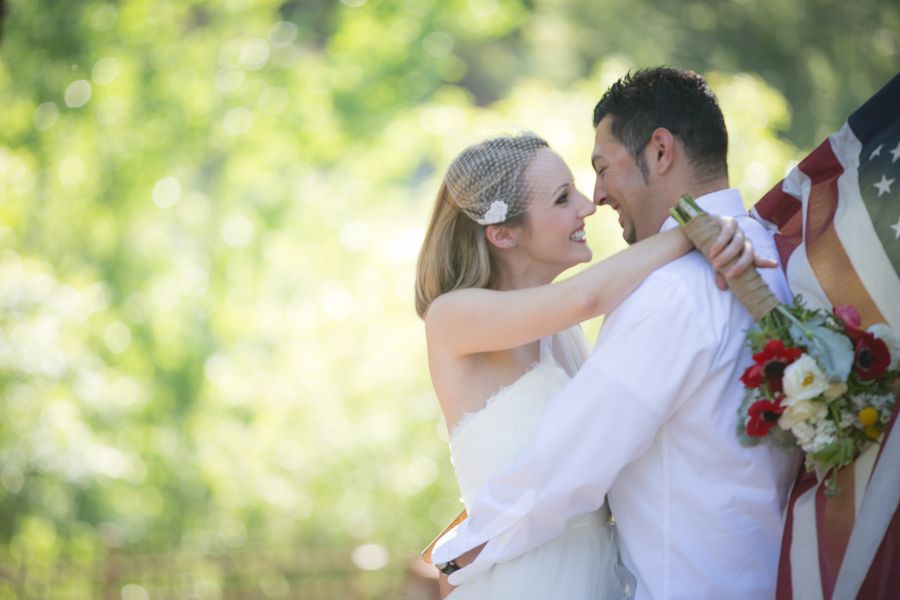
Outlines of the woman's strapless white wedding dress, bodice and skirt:
[{"label": "woman's strapless white wedding dress, bodice and skirt", "polygon": [[[544,408],[587,357],[580,327],[541,340],[540,361],[464,415],[450,433],[450,456],[469,508],[479,488],[527,452]],[[606,504],[569,520],[557,538],[462,584],[447,600],[630,598],[634,577],[619,561]]]}]

